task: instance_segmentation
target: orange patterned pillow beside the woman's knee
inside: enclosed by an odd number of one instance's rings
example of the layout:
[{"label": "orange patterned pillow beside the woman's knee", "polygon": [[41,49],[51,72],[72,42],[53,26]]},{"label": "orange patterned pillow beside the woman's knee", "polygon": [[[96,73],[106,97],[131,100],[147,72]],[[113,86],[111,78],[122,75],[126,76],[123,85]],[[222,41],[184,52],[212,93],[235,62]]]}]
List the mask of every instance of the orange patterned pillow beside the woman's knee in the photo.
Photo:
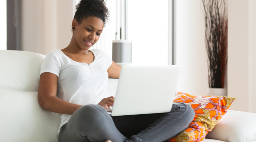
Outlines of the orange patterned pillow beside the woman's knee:
[{"label": "orange patterned pillow beside the woman's knee", "polygon": [[195,117],[189,128],[169,139],[168,142],[199,142],[215,127],[221,117],[236,98],[226,96],[192,96],[178,92],[173,103],[189,104],[195,111]]}]

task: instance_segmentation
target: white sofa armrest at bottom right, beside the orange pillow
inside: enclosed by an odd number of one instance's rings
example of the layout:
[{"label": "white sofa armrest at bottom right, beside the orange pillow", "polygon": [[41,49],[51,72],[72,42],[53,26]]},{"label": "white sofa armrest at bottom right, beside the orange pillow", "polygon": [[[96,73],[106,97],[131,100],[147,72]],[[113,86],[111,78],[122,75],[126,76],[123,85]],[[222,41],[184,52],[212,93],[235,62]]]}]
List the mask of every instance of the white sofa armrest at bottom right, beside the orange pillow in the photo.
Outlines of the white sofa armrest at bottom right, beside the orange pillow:
[{"label": "white sofa armrest at bottom right, beside the orange pillow", "polygon": [[256,114],[228,110],[206,138],[226,142],[256,142]]}]

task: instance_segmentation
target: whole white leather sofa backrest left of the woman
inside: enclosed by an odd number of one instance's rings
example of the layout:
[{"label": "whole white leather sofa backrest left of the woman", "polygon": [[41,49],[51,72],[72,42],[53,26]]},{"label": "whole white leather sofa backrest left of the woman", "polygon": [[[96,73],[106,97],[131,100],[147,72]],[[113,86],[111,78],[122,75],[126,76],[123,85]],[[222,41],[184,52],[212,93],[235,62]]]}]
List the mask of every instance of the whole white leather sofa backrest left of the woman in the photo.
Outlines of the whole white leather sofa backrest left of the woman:
[{"label": "whole white leather sofa backrest left of the woman", "polygon": [[60,114],[38,103],[42,54],[0,50],[0,141],[57,142]]}]

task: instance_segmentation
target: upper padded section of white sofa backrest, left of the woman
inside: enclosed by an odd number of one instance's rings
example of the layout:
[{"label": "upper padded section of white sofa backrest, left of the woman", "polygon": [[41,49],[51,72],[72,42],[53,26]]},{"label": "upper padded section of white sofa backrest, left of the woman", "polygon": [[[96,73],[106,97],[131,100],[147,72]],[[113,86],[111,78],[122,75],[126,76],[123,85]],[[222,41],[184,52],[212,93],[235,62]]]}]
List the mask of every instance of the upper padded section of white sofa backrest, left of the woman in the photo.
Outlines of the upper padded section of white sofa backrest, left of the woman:
[{"label": "upper padded section of white sofa backrest, left of the woman", "polygon": [[33,52],[1,50],[0,91],[37,92],[44,58]]}]

